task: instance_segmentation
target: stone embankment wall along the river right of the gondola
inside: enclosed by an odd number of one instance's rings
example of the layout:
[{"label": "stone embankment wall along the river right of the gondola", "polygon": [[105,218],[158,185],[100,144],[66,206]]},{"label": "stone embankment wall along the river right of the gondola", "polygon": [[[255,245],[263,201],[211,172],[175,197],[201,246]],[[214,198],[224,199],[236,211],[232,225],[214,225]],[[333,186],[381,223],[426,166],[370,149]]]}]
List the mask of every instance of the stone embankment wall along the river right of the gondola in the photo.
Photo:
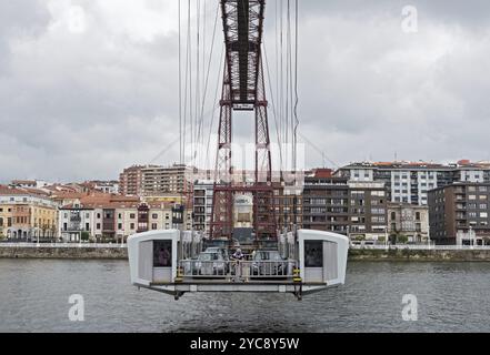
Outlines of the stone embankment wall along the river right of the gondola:
[{"label": "stone embankment wall along the river right of the gondola", "polygon": [[349,261],[369,262],[490,262],[490,250],[349,250]]}]

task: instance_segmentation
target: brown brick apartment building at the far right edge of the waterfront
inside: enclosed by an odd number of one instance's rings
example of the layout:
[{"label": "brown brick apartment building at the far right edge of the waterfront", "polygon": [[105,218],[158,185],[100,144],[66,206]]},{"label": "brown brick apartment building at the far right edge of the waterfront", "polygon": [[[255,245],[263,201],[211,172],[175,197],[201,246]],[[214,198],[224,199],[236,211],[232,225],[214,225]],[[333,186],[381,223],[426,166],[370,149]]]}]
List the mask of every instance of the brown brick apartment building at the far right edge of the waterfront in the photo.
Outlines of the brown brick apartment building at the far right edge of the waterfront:
[{"label": "brown brick apartment building at the far right edge of the waterfront", "polygon": [[490,183],[461,182],[429,192],[430,239],[490,244]]}]

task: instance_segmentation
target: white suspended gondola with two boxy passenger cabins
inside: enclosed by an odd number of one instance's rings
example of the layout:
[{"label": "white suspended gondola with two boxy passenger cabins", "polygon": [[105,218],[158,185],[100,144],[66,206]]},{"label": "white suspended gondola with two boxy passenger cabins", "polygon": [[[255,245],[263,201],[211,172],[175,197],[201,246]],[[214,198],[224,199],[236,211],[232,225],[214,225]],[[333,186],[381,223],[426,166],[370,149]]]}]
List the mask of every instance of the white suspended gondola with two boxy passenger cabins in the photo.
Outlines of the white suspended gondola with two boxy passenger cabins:
[{"label": "white suspended gondola with two boxy passenger cabins", "polygon": [[[202,245],[200,234],[178,230],[151,231],[129,237],[131,283],[174,295],[176,298],[189,292],[279,292],[292,293],[301,298],[303,294],[346,282],[349,242],[344,235],[310,230],[300,230],[296,236],[292,233],[281,235],[278,250],[288,263],[288,272],[281,277],[269,275],[238,280],[232,275],[232,261],[226,262],[230,263],[226,273],[212,277],[187,273],[192,267],[186,265],[199,263],[196,260],[202,252]],[[251,270],[253,264],[252,261],[243,261],[240,268]]]}]

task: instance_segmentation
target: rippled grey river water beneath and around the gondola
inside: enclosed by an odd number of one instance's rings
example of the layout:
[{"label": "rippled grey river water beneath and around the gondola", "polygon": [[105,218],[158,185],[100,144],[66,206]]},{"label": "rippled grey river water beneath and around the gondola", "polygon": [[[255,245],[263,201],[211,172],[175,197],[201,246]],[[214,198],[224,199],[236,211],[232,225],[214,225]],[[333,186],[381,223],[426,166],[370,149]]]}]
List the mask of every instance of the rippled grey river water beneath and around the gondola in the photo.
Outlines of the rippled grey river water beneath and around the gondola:
[{"label": "rippled grey river water beneath and around the gondola", "polygon": [[[69,297],[84,301],[70,322]],[[417,296],[418,321],[402,320]],[[0,332],[490,332],[490,263],[348,265],[347,284],[304,296],[188,294],[129,283],[124,261],[0,260]]]}]

